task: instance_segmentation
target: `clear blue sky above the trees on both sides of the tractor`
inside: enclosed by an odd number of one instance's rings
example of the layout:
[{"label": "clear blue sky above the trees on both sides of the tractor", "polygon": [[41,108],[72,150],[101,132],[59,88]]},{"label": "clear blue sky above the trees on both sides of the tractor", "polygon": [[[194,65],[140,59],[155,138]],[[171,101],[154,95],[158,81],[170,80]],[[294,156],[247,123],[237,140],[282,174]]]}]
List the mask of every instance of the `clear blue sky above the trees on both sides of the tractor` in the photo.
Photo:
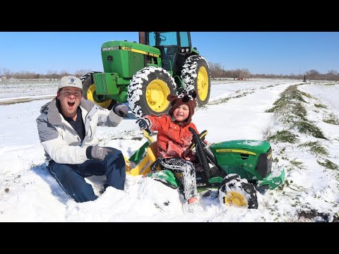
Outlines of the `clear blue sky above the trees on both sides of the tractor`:
[{"label": "clear blue sky above the trees on both sides of the tractor", "polygon": [[[0,32],[0,70],[103,71],[100,48],[110,40],[138,42],[138,32]],[[225,70],[339,71],[339,32],[191,32],[191,40],[201,55]]]}]

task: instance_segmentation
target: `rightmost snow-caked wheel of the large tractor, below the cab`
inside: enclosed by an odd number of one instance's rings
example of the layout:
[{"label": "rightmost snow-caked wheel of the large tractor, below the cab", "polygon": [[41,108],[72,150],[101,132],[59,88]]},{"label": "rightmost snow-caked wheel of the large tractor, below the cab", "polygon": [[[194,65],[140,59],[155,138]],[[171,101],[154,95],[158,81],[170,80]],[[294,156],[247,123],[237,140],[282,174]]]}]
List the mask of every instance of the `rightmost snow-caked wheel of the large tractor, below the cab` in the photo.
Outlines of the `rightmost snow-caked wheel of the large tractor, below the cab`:
[{"label": "rightmost snow-caked wheel of the large tractor, below the cab", "polygon": [[210,99],[210,68],[203,56],[189,56],[182,66],[182,81],[186,83],[186,92],[196,90],[198,106]]}]

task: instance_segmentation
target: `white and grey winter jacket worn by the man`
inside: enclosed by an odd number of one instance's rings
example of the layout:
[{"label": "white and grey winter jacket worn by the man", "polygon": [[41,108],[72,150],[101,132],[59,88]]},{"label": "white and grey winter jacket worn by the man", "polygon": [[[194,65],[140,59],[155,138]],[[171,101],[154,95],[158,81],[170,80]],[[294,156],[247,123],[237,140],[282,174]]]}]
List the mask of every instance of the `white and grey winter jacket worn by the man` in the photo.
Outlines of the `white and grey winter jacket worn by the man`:
[{"label": "white and grey winter jacket worn by the man", "polygon": [[78,133],[59,113],[57,98],[44,104],[37,117],[37,131],[40,143],[44,147],[46,164],[51,159],[60,164],[81,164],[88,158],[86,148],[97,145],[99,140],[94,137],[97,126],[118,126],[123,117],[113,110],[103,109],[88,99],[81,100],[81,113],[85,123],[85,138],[81,142]]}]

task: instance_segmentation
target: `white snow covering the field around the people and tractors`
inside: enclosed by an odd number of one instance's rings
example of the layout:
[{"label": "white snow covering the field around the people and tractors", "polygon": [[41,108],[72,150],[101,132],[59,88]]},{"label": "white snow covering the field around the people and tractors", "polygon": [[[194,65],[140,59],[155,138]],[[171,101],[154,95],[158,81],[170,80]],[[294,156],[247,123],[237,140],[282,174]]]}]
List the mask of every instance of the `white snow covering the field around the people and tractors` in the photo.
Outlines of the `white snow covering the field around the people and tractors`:
[{"label": "white snow covering the field around the people and tractors", "polygon": [[[212,191],[209,196],[201,196],[203,212],[188,214],[183,211],[184,200],[177,190],[141,176],[126,176],[124,191],[109,187],[102,195],[99,191],[105,179],[92,177],[87,181],[93,184],[100,198],[84,203],[70,200],[44,165],[44,151],[35,122],[40,107],[50,101],[41,97],[56,94],[57,82],[0,83],[0,222],[338,221],[339,126],[323,122],[330,115],[339,119],[338,84],[280,79],[218,80],[211,87],[210,102],[196,109],[193,122],[198,131],[208,131],[209,143],[264,140],[268,131],[273,135],[287,130],[273,113],[265,111],[273,107],[280,93],[290,85],[299,85],[299,91],[311,95],[303,96],[307,119],[318,126],[328,140],[289,129],[298,135],[298,143],[270,142],[273,175],[285,170],[286,182],[282,188],[258,193],[258,209],[226,207],[216,198],[216,191]],[[1,104],[8,99],[35,96],[38,100]],[[126,157],[146,140],[136,119],[129,115],[116,128],[97,128],[100,145],[116,147]],[[309,141],[319,141],[328,156],[299,146]],[[327,169],[319,164],[327,161],[337,168]],[[312,212],[323,216],[300,215]]]}]

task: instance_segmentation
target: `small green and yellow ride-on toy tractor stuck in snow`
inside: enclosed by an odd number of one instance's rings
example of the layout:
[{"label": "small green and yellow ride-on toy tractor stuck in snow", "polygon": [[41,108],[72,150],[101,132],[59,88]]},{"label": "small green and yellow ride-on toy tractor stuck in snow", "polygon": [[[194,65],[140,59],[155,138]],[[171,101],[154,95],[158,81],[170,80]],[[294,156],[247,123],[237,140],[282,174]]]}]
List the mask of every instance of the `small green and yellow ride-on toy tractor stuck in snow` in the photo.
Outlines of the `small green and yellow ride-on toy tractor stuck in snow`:
[{"label": "small green and yellow ride-on toy tractor stuck in snow", "polygon": [[[272,174],[272,149],[264,140],[230,140],[206,145],[207,131],[198,135],[193,128],[195,149],[196,186],[199,192],[217,193],[220,203],[258,208],[257,191],[265,193],[285,181],[285,171]],[[157,142],[143,131],[148,142],[126,159],[126,174],[148,176],[166,186],[182,191],[180,176],[163,169],[157,160]]]}]

